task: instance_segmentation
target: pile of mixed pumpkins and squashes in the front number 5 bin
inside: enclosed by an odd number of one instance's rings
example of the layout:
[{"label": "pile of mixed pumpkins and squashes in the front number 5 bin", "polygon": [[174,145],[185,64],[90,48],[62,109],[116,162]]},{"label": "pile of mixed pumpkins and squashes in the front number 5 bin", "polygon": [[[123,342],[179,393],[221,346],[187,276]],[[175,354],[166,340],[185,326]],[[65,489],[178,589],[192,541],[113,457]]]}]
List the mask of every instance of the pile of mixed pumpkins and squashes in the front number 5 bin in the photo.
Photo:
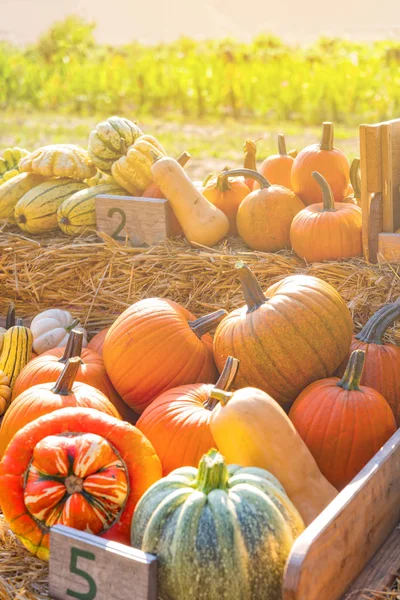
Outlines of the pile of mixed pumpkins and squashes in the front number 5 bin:
[{"label": "pile of mixed pumpkins and squashes in the front number 5 bin", "polygon": [[281,597],[296,537],[396,431],[400,302],[354,336],[330,284],[236,269],[229,314],[148,298],[89,342],[66,311],[10,308],[0,506],[33,554],[61,523],[157,555],[160,597]]}]

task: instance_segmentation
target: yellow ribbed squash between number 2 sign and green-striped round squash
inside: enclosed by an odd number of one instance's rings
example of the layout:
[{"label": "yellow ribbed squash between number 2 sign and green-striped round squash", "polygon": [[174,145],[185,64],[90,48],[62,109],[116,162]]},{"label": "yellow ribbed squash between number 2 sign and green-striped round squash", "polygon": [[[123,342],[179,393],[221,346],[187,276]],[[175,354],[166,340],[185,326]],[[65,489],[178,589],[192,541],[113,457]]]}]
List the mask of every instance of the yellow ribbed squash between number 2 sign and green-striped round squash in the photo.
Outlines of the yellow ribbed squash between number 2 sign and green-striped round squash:
[{"label": "yellow ribbed squash between number 2 sign and green-striped round squash", "polygon": [[153,181],[153,156],[165,156],[160,142],[151,135],[142,135],[112,166],[115,181],[133,196],[141,196]]}]

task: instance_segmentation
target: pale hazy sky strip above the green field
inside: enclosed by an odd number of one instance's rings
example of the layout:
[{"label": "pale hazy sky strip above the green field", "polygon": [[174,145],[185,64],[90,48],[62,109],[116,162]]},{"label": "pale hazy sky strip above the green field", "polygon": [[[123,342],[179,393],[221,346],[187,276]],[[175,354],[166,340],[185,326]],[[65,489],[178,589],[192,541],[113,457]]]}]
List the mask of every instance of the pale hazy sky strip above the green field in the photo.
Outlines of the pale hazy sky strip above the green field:
[{"label": "pale hazy sky strip above the green field", "polygon": [[398,0],[0,0],[0,39],[34,42],[57,20],[96,21],[109,44],[157,43],[180,35],[249,40],[272,32],[308,42],[322,34],[400,39]]}]

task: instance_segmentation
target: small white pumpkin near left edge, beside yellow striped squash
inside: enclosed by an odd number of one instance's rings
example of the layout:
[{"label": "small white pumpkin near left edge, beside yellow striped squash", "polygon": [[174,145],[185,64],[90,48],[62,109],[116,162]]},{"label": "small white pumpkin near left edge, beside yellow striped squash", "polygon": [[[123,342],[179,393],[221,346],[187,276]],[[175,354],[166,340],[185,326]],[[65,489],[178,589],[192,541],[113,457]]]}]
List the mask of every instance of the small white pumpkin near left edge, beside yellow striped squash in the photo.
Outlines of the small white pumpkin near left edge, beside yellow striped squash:
[{"label": "small white pumpkin near left edge, beside yellow striped squash", "polygon": [[33,351],[36,354],[66,346],[71,329],[82,331],[82,344],[84,348],[87,346],[86,330],[67,310],[51,308],[39,313],[33,319],[30,329],[33,335]]}]

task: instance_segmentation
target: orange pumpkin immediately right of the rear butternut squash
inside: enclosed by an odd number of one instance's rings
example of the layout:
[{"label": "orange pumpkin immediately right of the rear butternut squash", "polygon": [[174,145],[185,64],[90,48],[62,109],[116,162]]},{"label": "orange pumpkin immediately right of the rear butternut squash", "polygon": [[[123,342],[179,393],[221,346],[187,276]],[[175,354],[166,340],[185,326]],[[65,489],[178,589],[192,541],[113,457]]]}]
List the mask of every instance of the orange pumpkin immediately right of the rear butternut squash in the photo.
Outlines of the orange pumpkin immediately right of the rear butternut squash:
[{"label": "orange pumpkin immediately right of the rear butternut squash", "polygon": [[211,204],[226,214],[229,219],[229,234],[237,235],[237,211],[242,200],[250,194],[250,190],[240,179],[226,177],[227,172],[226,168],[216,178],[209,179],[202,194]]}]

